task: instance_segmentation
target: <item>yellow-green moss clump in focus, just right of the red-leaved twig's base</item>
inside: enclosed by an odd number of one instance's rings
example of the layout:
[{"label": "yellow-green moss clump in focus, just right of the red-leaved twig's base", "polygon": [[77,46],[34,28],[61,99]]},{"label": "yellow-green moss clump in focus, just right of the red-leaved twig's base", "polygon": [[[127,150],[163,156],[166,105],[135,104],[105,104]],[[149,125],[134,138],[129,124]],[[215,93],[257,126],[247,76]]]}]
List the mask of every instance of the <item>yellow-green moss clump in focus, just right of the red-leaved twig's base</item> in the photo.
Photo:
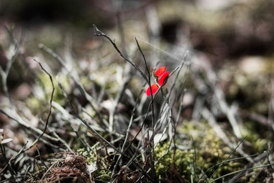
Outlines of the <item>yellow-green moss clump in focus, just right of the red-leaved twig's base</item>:
[{"label": "yellow-green moss clump in focus, just right of the red-leaved twig's base", "polygon": [[[203,170],[203,172],[207,171],[210,169],[210,167],[214,167],[215,164],[225,160],[225,158],[227,158],[232,152],[232,149],[227,147],[227,145],[215,134],[214,130],[212,130],[212,128],[207,123],[192,123],[184,121],[184,126],[179,127],[179,132],[188,134],[189,139],[191,139],[192,136],[192,138],[195,140],[197,157],[196,167],[199,167],[196,169],[196,175],[201,175],[201,171],[199,171],[199,169]],[[188,170],[191,168],[191,166],[195,165],[192,158],[194,156],[194,151],[188,150],[186,152],[188,155],[184,156],[190,158],[186,159],[189,162],[189,166],[186,168]],[[236,157],[236,154],[232,154],[232,156],[230,156],[230,158]],[[208,171],[206,175],[210,177],[216,168],[217,167]],[[221,175],[237,171],[238,169],[240,169],[240,162],[226,162],[221,167],[219,167],[218,171],[214,173],[212,178],[218,178]],[[190,175],[189,172],[188,175]]]}]

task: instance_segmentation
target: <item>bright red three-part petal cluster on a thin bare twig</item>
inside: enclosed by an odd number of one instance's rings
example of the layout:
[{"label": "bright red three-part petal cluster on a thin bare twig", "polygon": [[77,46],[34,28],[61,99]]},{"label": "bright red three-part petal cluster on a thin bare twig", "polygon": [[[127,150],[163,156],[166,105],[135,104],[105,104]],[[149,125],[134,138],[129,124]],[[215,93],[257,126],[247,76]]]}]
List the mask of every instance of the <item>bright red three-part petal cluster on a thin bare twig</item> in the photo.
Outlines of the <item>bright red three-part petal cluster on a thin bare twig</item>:
[{"label": "bright red three-part petal cluster on a thin bare twig", "polygon": [[[151,92],[152,94],[156,93],[157,90],[159,89],[159,86],[164,86],[166,84],[167,80],[169,79],[169,72],[164,73],[165,71],[166,71],[165,66],[162,66],[157,71],[153,71],[153,76],[156,78],[156,82],[158,83],[151,85],[151,91],[150,91],[150,88],[147,88],[147,96],[150,96]],[[160,77],[160,80],[158,80],[159,77]]]}]

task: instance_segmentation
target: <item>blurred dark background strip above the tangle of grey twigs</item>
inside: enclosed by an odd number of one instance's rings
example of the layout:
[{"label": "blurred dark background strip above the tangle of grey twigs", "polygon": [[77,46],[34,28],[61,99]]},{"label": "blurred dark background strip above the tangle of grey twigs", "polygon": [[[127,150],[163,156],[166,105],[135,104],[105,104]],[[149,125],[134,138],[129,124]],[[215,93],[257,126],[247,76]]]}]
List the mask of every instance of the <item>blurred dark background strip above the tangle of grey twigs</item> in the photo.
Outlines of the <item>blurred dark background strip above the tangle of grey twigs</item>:
[{"label": "blurred dark background strip above the tangle of grey twigs", "polygon": [[[115,29],[120,17],[126,34],[132,37],[146,37],[150,33],[149,39],[159,36],[171,45],[186,41],[180,40],[185,37],[194,49],[207,53],[218,64],[241,56],[271,56],[274,48],[271,0],[2,0],[0,3],[1,24],[14,23],[25,32],[35,33],[48,27],[51,34],[59,32],[64,36],[65,30],[73,32],[73,37],[90,39],[92,24],[101,29]],[[143,26],[142,32],[139,24]],[[60,27],[62,30],[58,31]],[[51,35],[44,34],[44,39]]]}]

